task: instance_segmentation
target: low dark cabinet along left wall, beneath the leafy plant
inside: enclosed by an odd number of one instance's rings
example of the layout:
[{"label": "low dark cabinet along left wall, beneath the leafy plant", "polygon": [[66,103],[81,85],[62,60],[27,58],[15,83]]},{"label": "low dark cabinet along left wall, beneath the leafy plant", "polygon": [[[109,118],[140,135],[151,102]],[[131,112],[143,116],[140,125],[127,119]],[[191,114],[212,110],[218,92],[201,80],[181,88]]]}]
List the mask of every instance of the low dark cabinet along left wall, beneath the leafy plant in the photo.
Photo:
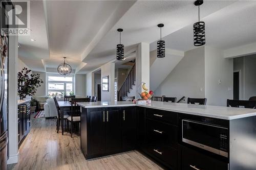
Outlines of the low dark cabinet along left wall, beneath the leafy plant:
[{"label": "low dark cabinet along left wall, beneath the leafy plant", "polygon": [[20,104],[17,107],[18,114],[18,146],[22,144],[22,141],[27,136],[31,127],[31,113],[30,113],[30,102]]}]

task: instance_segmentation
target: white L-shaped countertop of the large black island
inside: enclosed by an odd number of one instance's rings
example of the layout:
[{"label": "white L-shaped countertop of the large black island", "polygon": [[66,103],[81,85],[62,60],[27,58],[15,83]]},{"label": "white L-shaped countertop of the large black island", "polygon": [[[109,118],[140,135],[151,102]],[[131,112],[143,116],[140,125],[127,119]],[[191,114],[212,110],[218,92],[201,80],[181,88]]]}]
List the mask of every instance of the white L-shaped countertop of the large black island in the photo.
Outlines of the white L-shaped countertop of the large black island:
[{"label": "white L-shaped countertop of the large black island", "polygon": [[170,102],[152,102],[151,104],[146,104],[146,105],[133,104],[132,102],[90,102],[90,103],[79,103],[79,105],[84,108],[140,106],[140,107],[146,107],[146,108],[152,108],[152,109],[214,117],[214,118],[227,119],[227,120],[256,116],[256,109],[209,106],[209,105],[192,105],[192,104],[170,103]]}]

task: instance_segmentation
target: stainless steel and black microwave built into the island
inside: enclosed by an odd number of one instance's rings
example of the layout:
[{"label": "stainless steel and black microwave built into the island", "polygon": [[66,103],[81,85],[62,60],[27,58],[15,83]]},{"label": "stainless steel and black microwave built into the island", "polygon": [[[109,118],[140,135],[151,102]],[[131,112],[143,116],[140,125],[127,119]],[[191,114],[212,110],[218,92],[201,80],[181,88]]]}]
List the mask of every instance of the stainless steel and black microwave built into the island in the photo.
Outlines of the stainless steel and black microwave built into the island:
[{"label": "stainless steel and black microwave built into the island", "polygon": [[228,157],[228,129],[218,125],[182,119],[182,141]]}]

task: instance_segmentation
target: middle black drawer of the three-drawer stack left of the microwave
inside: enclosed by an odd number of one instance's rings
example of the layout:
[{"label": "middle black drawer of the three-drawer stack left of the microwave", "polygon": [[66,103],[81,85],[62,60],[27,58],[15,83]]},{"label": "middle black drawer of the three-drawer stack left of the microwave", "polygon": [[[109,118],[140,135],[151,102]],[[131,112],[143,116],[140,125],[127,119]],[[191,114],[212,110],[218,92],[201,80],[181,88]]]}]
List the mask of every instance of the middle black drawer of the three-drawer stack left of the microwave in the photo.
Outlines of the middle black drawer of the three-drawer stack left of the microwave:
[{"label": "middle black drawer of the three-drawer stack left of the microwave", "polygon": [[178,148],[178,128],[176,126],[151,119],[146,119],[146,126],[148,145]]}]

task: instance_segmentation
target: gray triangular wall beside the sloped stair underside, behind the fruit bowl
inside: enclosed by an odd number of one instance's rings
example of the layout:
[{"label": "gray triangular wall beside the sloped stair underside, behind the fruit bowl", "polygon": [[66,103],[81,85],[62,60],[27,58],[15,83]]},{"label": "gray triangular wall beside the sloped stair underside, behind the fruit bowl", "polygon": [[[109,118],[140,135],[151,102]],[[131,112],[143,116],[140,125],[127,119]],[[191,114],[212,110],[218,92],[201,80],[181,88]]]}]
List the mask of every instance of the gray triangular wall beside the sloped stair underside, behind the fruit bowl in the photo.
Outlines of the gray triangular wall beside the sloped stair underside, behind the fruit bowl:
[{"label": "gray triangular wall beside the sloped stair underside, behind the fruit bowl", "polygon": [[178,100],[182,96],[204,98],[204,64],[204,47],[185,52],[179,64],[155,90],[155,95],[176,96]]}]

